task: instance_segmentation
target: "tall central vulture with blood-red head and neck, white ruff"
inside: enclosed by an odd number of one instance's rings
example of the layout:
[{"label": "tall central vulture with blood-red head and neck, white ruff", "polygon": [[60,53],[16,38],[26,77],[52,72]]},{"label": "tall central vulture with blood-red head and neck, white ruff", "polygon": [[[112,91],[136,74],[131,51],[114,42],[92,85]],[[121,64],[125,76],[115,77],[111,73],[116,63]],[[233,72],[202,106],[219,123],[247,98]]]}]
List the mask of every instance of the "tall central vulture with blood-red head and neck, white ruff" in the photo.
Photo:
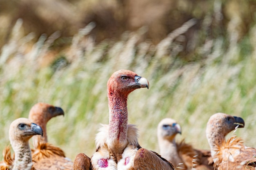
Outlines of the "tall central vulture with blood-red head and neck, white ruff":
[{"label": "tall central vulture with blood-red head and neck, white ruff", "polygon": [[127,98],[137,88],[148,88],[148,80],[128,70],[113,73],[108,80],[109,124],[96,136],[92,170],[174,170],[171,162],[156,152],[141,148],[135,125],[128,124]]}]

